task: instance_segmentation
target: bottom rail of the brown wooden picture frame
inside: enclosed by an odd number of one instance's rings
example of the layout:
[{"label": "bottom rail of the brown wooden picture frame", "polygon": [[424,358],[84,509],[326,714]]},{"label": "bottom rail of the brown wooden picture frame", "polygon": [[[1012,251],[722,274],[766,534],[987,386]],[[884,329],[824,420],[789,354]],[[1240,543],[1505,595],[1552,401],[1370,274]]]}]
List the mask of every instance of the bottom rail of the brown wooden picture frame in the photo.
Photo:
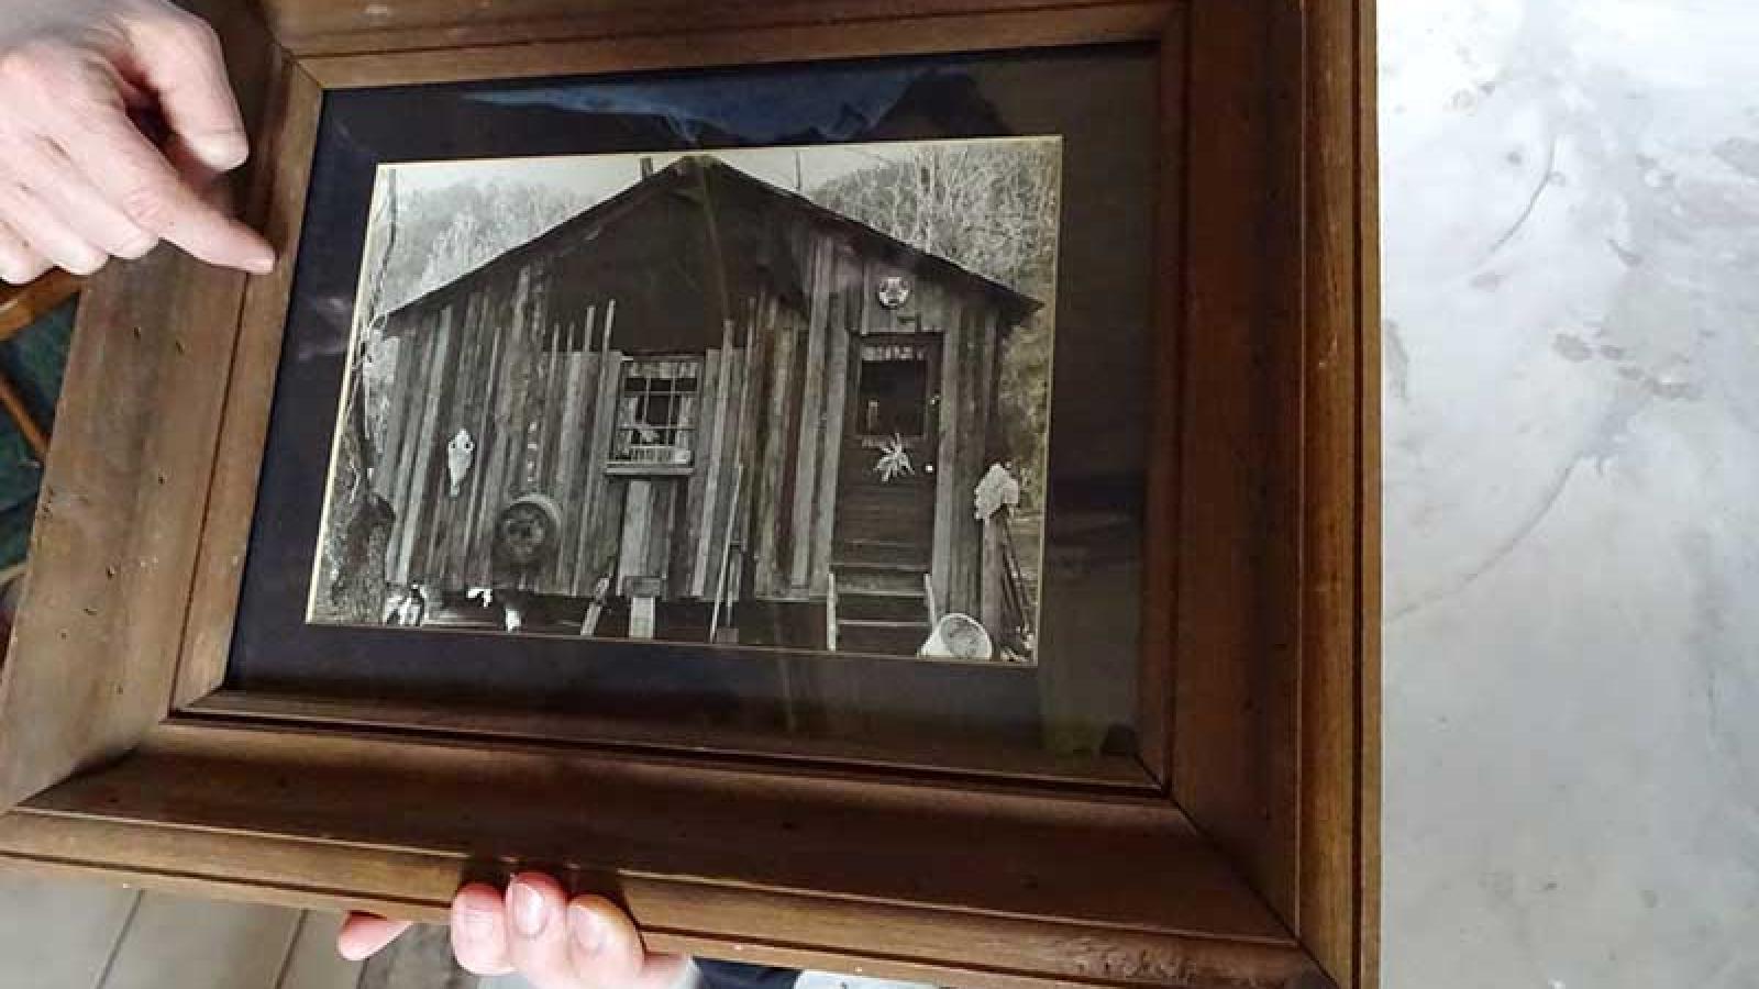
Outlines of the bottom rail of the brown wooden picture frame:
[{"label": "bottom rail of the brown wooden picture frame", "polygon": [[[116,827],[134,838],[116,845]],[[0,855],[412,919],[443,917],[461,878],[545,868],[721,957],[779,940],[880,971],[1237,984],[1186,980],[1207,954],[1307,970],[1159,801],[181,725],[0,818]]]}]

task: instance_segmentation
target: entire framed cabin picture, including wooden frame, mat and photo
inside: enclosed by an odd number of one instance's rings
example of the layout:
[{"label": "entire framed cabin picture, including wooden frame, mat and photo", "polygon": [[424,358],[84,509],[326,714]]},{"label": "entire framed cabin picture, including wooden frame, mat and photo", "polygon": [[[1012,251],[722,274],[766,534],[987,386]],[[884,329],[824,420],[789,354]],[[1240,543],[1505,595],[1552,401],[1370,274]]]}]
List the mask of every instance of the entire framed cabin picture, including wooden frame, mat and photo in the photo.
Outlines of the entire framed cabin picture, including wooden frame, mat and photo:
[{"label": "entire framed cabin picture, including wooden frame, mat and photo", "polygon": [[281,266],[90,287],[0,864],[1377,984],[1367,0],[204,14]]}]

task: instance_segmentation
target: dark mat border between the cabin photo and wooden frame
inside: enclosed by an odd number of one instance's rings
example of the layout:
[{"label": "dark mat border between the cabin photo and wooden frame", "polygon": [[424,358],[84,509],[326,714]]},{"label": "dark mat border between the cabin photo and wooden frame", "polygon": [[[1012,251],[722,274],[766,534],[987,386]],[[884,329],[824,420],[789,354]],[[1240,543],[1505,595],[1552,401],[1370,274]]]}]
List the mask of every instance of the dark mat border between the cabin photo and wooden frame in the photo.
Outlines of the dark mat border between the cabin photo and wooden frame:
[{"label": "dark mat border between the cabin photo and wooden frame", "polygon": [[[1084,84],[1068,86],[1077,76]],[[748,83],[756,92],[846,95],[846,113],[827,118],[821,107],[788,100],[728,106],[726,93]],[[916,744],[946,736],[1092,750],[1106,734],[1126,737],[1135,723],[1142,621],[1157,162],[1154,114],[1122,107],[1156,100],[1152,53],[1071,49],[640,76],[612,84],[640,92],[646,113],[631,113],[628,100],[582,109],[547,95],[501,99],[603,86],[362,90],[327,99],[232,683],[864,737],[908,732]],[[1096,114],[1098,106],[1119,113]],[[777,120],[790,114],[799,125]],[[707,648],[306,625],[378,162],[1025,134],[1061,134],[1066,153],[1040,669],[779,660]]]}]

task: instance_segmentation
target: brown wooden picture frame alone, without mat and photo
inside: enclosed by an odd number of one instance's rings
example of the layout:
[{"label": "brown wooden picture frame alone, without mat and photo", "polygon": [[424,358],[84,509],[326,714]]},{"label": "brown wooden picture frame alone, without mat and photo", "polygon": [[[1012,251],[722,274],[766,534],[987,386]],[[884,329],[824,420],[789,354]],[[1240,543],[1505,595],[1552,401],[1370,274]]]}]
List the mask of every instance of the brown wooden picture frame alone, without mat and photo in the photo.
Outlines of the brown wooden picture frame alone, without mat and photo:
[{"label": "brown wooden picture frame alone, without mat and photo", "polygon": [[[1377,985],[1372,0],[202,12],[255,136],[245,213],[283,257],[245,278],[167,250],[84,296],[0,672],[0,864],[442,922],[461,880],[544,868],[660,950],[955,985]],[[1150,486],[1142,778],[222,690],[325,92],[1122,42],[1163,65],[1177,440]]]}]

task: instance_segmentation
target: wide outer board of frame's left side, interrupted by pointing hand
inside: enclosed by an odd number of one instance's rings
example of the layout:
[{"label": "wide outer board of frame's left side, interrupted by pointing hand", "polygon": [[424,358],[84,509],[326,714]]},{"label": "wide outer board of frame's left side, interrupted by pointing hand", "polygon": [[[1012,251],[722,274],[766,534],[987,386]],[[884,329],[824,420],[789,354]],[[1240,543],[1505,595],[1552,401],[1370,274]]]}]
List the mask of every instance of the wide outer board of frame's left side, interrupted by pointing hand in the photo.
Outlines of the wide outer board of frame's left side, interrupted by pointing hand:
[{"label": "wide outer board of frame's left side, interrupted by pointing hand", "polygon": [[[280,49],[239,7],[206,12],[259,132]],[[90,283],[0,669],[0,810],[167,714],[245,282],[162,248]]]}]

